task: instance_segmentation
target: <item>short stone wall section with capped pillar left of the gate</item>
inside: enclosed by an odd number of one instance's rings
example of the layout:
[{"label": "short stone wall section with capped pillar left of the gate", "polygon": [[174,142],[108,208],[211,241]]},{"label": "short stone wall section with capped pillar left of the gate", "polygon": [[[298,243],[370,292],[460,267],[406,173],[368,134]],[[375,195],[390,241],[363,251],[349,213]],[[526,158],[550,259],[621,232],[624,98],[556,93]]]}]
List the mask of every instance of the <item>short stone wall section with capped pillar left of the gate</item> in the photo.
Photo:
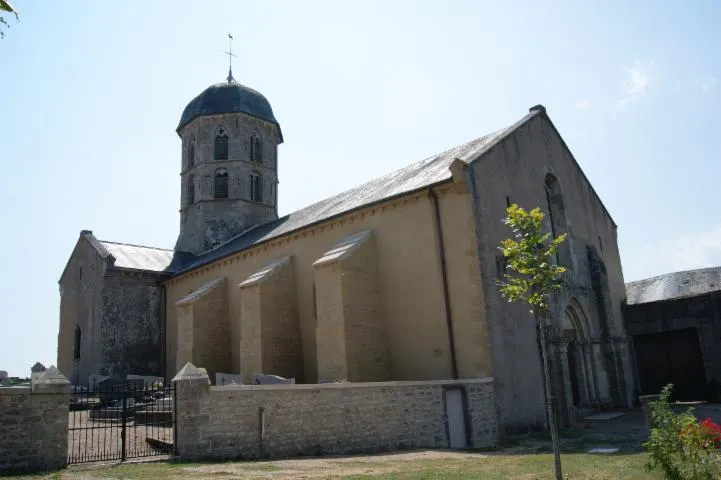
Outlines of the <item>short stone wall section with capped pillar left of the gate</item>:
[{"label": "short stone wall section with capped pillar left of the gate", "polygon": [[0,388],[0,474],[65,466],[69,391],[55,367],[31,387]]}]

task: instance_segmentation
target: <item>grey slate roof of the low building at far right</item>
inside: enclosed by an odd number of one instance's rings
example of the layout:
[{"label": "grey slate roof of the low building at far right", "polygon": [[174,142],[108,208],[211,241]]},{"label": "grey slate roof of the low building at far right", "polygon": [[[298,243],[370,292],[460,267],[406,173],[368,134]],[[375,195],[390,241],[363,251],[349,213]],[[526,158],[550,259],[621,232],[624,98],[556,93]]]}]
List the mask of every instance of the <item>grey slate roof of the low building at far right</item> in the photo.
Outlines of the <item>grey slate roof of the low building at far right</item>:
[{"label": "grey slate roof of the low building at far right", "polygon": [[667,273],[626,284],[629,305],[696,297],[721,290],[721,267]]}]

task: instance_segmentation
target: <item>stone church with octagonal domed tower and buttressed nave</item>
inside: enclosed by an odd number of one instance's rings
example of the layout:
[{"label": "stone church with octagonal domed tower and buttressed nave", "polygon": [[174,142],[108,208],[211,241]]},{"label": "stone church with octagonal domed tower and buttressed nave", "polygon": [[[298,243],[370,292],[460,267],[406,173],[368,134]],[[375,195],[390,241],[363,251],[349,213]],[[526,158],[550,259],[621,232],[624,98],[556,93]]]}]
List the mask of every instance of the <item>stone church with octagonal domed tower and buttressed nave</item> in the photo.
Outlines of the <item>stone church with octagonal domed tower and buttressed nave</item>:
[{"label": "stone church with octagonal domed tower and buttressed nave", "polygon": [[493,377],[504,428],[542,424],[534,321],[496,284],[518,203],[569,235],[550,339],[563,416],[630,404],[616,224],[542,106],[283,217],[283,134],[263,95],[229,74],[176,132],[175,248],[83,230],[60,277],[58,366],[73,382],[170,379],[186,362],[246,382]]}]

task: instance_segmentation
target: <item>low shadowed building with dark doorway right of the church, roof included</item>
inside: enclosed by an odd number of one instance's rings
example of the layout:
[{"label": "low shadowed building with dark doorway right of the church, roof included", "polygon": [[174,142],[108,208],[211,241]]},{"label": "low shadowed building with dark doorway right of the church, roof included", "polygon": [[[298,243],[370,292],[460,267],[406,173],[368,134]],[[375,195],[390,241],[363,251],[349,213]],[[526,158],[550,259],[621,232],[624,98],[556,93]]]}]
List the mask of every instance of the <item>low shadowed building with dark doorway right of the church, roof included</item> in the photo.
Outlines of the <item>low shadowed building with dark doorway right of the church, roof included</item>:
[{"label": "low shadowed building with dark doorway right of the church, roof included", "polygon": [[679,400],[721,397],[721,267],[626,285],[639,394],[674,385]]}]

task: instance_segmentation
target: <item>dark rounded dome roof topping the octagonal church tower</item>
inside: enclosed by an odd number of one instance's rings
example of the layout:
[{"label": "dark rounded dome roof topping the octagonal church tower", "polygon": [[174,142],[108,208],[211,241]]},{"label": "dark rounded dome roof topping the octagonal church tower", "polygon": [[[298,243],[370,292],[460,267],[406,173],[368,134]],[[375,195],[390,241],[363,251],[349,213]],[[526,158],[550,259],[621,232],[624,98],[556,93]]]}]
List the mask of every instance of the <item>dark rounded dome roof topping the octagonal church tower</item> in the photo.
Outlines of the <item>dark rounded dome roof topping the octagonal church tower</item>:
[{"label": "dark rounded dome roof topping the octagonal church tower", "polygon": [[[278,125],[268,100],[252,88],[239,84],[235,80],[217,83],[206,88],[183,110],[176,132],[195,117],[219,113],[246,113]],[[280,130],[280,125],[278,125]]]}]

